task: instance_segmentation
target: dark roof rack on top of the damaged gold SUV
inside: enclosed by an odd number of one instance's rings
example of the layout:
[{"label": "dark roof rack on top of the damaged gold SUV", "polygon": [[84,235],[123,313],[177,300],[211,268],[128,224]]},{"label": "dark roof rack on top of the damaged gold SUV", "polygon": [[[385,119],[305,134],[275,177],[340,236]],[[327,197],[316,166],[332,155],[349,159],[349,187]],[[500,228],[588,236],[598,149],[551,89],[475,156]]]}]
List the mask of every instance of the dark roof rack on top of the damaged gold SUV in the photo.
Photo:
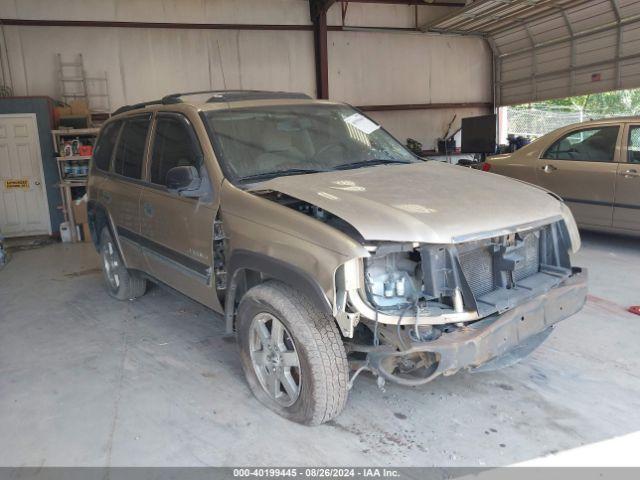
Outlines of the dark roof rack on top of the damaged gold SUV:
[{"label": "dark roof rack on top of the damaged gold SUV", "polygon": [[270,92],[266,90],[200,90],[195,92],[170,93],[169,95],[162,97],[160,100],[124,105],[113,112],[113,115],[129,112],[138,108],[144,108],[149,105],[171,105],[174,103],[182,103],[181,97],[204,94],[212,94],[211,97],[206,100],[206,103],[239,102],[242,100],[311,99],[311,97],[306,93],[297,92]]}]

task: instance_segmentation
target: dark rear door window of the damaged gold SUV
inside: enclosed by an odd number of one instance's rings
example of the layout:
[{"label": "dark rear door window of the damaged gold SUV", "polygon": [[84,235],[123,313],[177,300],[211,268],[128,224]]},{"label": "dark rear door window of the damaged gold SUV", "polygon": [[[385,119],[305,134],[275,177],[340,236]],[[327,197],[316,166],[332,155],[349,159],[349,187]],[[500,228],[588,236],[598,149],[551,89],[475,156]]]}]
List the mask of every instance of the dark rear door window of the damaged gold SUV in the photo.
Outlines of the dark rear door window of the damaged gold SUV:
[{"label": "dark rear door window of the damaged gold SUV", "polygon": [[150,117],[134,117],[124,121],[118,141],[113,171],[129,178],[142,178],[144,147],[147,142]]}]

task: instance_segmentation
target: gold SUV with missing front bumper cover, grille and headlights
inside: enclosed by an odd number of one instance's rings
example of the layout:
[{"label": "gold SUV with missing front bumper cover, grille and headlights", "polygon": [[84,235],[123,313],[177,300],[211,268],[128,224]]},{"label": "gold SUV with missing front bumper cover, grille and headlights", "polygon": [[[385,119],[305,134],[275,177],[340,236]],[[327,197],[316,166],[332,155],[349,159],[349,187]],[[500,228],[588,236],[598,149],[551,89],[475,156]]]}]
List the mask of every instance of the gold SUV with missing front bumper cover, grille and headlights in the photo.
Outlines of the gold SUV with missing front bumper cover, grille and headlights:
[{"label": "gold SUV with missing front bumper cover, grille and headlights", "polygon": [[151,280],[223,314],[253,393],[305,424],[338,415],[364,370],[415,386],[511,364],[586,298],[558,197],[423,161],[301,94],[121,108],[88,211],[112,296]]}]

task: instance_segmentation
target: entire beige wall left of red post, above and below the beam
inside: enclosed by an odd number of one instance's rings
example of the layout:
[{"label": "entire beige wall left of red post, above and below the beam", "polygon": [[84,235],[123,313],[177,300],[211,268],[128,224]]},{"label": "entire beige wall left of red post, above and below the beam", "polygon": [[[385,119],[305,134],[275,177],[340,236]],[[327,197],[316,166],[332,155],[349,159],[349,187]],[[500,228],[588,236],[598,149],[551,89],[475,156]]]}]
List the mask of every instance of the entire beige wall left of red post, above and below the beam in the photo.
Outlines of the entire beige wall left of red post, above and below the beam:
[{"label": "entire beige wall left of red post, above and below the beam", "polygon": [[108,73],[113,106],[202,89],[262,88],[314,95],[307,2],[242,3],[246,8],[238,9],[238,2],[229,0],[2,1],[1,18],[308,27],[307,31],[260,31],[5,25],[14,93],[57,98],[55,54],[70,58],[82,53],[88,75]]}]

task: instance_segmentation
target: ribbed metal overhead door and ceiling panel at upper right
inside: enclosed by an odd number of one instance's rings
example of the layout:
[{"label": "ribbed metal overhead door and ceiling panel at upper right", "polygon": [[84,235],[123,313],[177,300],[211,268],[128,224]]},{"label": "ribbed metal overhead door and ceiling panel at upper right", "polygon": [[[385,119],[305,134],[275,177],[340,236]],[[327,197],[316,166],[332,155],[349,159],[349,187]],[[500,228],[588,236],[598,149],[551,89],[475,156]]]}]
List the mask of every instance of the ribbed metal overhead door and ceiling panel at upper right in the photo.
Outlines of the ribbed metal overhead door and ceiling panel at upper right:
[{"label": "ribbed metal overhead door and ceiling panel at upper right", "polygon": [[487,38],[499,105],[640,87],[640,0],[479,0],[423,28]]}]

